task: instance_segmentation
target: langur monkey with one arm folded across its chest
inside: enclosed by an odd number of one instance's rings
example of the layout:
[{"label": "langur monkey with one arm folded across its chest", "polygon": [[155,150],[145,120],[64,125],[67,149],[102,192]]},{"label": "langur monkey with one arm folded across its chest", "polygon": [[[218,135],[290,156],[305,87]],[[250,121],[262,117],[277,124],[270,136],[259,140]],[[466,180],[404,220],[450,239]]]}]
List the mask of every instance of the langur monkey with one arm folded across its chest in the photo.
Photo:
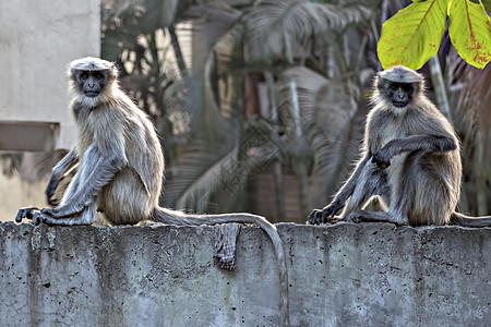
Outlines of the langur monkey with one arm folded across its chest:
[{"label": "langur monkey with one arm folded across its chest", "polygon": [[[308,222],[491,226],[490,216],[455,211],[459,143],[452,124],[424,95],[422,75],[402,65],[380,72],[371,102],[361,160],[331,204],[314,209]],[[362,210],[374,196],[385,211]]]}]

